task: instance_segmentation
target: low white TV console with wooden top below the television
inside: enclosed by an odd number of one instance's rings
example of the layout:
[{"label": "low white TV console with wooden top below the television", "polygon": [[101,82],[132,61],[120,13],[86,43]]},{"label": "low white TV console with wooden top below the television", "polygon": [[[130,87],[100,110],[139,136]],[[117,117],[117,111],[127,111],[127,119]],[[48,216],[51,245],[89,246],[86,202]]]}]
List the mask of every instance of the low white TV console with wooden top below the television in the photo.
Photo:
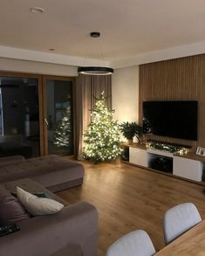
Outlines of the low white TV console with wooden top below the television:
[{"label": "low white TV console with wooden top below the television", "polygon": [[205,164],[204,156],[197,156],[194,153],[184,155],[173,154],[158,149],[147,149],[137,143],[126,145],[129,148],[129,163],[136,164],[141,167],[151,168],[154,158],[167,157],[173,161],[174,176],[202,182],[203,167]]}]

